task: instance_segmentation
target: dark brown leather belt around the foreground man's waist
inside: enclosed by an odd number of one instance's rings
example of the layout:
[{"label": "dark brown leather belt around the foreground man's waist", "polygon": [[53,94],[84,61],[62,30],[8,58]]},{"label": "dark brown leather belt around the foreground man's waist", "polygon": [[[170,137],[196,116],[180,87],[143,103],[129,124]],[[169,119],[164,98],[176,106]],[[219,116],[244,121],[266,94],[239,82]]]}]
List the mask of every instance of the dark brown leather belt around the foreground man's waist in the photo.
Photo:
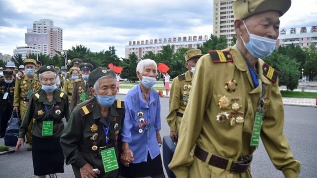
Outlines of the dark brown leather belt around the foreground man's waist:
[{"label": "dark brown leather belt around the foreground man's waist", "polygon": [[[209,153],[200,148],[198,145],[196,145],[194,154],[197,158],[199,158],[203,162],[206,162]],[[244,173],[248,170],[251,161],[252,156],[240,157],[237,162],[234,162],[226,158],[211,155],[208,164],[217,168],[230,171],[231,173]],[[231,164],[231,166],[229,164]]]}]

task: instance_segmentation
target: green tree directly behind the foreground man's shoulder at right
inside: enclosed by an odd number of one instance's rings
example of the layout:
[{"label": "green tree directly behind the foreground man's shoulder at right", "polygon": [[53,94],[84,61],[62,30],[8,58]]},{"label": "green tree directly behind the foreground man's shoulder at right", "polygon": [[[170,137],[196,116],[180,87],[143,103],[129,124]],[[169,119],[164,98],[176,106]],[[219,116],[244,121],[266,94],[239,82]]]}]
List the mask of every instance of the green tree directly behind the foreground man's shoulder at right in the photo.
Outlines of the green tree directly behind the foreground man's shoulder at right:
[{"label": "green tree directly behind the foreground man's shoulder at right", "polygon": [[299,63],[295,59],[274,51],[270,56],[264,58],[264,61],[280,72],[279,86],[286,86],[290,90],[297,88]]}]

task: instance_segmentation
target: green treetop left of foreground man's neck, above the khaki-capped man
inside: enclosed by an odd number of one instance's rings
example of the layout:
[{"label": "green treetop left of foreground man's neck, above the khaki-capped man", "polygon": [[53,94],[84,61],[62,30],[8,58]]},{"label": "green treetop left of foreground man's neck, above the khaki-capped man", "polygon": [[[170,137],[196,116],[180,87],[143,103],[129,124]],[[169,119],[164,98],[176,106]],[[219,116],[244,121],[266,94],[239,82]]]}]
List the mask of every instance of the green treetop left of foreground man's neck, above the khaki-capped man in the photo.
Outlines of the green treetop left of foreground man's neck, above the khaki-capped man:
[{"label": "green treetop left of foreground man's neck, above the khaki-capped man", "polygon": [[200,49],[203,54],[207,54],[209,50],[221,50],[225,48],[227,48],[227,38],[223,35],[218,38],[217,36],[212,34],[207,42],[204,42],[203,45],[198,47],[198,49]]}]

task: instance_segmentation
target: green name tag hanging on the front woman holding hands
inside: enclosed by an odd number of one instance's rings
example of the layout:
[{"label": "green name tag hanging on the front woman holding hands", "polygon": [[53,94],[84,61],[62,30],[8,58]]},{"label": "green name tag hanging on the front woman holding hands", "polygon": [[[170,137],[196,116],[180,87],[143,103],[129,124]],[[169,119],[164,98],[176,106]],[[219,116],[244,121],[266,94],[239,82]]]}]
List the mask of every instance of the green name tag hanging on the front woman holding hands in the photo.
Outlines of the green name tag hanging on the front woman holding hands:
[{"label": "green name tag hanging on the front woman holding hands", "polygon": [[117,157],[115,156],[114,148],[108,148],[101,151],[105,172],[110,172],[119,169]]}]

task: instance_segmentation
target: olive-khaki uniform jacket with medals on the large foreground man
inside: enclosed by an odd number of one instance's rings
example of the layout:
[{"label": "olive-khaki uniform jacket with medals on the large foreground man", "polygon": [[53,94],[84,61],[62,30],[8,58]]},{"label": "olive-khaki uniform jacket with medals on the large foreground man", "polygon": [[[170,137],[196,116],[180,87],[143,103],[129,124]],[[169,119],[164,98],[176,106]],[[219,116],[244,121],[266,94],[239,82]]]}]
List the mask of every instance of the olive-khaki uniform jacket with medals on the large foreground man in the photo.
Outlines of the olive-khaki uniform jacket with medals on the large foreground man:
[{"label": "olive-khaki uniform jacket with medals on the large foreground man", "polygon": [[[206,54],[196,65],[191,98],[169,168],[178,178],[251,178],[250,167],[246,172],[234,174],[230,169],[232,162],[241,157],[251,157],[256,149],[250,146],[250,141],[258,101],[263,98],[263,83],[266,87],[266,112],[261,139],[274,166],[283,171],[286,178],[297,178],[301,166],[294,159],[283,133],[283,102],[276,72],[267,67],[263,70],[261,66],[264,62],[259,59],[260,85],[254,88],[246,61],[237,47],[224,51]],[[238,120],[238,117],[242,119]],[[232,122],[232,118],[236,118],[236,122]],[[204,156],[200,154],[205,161],[196,153],[194,159],[189,157],[195,144],[207,153]],[[198,151],[197,155],[201,152]],[[229,159],[226,168],[211,166],[209,161],[213,155]]]}]

